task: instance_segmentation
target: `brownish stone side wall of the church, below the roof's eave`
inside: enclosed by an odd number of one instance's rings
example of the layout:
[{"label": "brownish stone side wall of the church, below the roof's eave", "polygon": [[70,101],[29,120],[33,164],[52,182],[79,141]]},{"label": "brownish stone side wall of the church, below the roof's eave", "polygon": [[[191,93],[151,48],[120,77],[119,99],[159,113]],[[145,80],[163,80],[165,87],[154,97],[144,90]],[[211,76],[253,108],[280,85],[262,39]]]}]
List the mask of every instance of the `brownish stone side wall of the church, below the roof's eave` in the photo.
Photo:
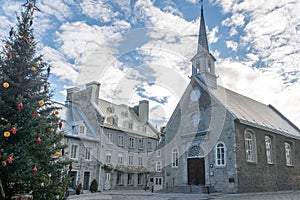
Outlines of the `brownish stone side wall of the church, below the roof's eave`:
[{"label": "brownish stone side wall of the church, below the roof's eave", "polygon": [[[256,137],[257,162],[246,161],[244,131]],[[300,189],[300,141],[269,131],[236,123],[239,192],[268,192]],[[273,138],[274,164],[266,158],[265,135]],[[284,143],[292,144],[293,166],[286,166]]]}]

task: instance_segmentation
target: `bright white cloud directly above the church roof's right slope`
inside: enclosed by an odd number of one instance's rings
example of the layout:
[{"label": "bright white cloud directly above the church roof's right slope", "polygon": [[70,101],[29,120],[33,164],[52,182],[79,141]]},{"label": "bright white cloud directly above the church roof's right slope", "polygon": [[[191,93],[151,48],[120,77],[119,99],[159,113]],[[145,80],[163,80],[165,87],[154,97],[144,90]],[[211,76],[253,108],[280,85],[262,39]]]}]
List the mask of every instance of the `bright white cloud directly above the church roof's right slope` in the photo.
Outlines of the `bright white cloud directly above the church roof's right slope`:
[{"label": "bright white cloud directly above the church roof's right slope", "polygon": [[[251,56],[251,55],[250,55]],[[253,55],[252,55],[253,56]],[[231,60],[217,63],[218,83],[265,104],[272,104],[300,126],[300,81],[286,88],[273,70],[259,70]]]}]

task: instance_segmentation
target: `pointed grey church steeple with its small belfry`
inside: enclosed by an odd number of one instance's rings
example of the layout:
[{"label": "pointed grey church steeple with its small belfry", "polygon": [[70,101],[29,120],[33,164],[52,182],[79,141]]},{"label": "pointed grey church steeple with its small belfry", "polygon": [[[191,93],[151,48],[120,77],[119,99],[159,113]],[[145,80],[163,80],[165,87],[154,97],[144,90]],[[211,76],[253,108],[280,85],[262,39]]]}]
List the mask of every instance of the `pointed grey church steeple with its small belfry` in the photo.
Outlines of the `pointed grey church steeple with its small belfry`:
[{"label": "pointed grey church steeple with its small belfry", "polygon": [[206,35],[205,20],[203,14],[203,0],[201,2],[201,19],[198,36],[197,53],[192,58],[192,77],[199,77],[207,87],[217,88],[217,77],[215,75],[215,57],[209,52]]}]

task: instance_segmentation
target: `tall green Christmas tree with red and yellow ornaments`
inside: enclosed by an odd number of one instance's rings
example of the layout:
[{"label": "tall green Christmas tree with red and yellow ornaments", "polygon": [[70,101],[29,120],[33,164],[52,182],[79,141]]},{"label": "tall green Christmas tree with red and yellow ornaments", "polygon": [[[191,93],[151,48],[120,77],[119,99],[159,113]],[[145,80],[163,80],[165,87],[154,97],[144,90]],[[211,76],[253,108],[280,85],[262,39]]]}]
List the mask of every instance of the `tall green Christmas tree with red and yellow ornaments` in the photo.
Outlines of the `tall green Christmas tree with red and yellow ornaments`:
[{"label": "tall green Christmas tree with red and yellow ornaments", "polygon": [[0,199],[64,199],[68,165],[50,66],[37,55],[35,0],[27,0],[0,54]]}]

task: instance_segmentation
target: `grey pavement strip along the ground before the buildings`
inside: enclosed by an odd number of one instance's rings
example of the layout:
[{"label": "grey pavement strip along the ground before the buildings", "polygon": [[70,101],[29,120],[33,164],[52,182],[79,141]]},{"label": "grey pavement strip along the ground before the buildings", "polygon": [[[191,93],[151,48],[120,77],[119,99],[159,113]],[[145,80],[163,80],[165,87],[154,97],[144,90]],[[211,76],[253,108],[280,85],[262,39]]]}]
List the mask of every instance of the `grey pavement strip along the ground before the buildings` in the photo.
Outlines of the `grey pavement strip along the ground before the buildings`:
[{"label": "grey pavement strip along the ground before the buildings", "polygon": [[300,200],[300,191],[241,194],[151,193],[142,190],[114,190],[72,195],[68,200]]}]

